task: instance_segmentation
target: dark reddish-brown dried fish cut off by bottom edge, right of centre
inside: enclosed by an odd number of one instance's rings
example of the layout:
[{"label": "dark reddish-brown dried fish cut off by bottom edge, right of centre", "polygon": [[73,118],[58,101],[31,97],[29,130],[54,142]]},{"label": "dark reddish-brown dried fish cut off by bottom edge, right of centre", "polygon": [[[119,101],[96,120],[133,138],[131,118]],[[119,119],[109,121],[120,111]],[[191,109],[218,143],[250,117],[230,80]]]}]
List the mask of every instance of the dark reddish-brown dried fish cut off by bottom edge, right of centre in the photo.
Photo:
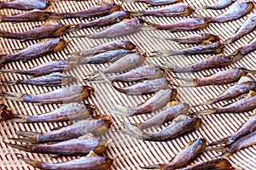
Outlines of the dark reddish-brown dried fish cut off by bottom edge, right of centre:
[{"label": "dark reddish-brown dried fish cut off by bottom edge, right of centre", "polygon": [[232,164],[230,161],[224,158],[213,159],[212,161],[205,161],[195,164],[192,167],[184,168],[183,170],[232,170]]}]

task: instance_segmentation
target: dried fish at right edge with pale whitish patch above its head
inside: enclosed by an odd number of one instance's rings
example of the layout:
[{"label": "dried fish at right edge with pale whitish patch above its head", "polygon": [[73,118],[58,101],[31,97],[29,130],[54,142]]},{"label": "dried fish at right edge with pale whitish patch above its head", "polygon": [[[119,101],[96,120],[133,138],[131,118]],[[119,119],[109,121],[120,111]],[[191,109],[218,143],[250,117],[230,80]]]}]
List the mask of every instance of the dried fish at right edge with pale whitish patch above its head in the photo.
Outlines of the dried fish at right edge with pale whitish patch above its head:
[{"label": "dried fish at right edge with pale whitish patch above its head", "polygon": [[247,94],[251,90],[255,89],[255,81],[252,81],[252,79],[248,77],[241,77],[241,79],[234,86],[231,86],[230,88],[224,90],[224,92],[220,94],[217,98],[208,99],[206,103],[201,105],[213,104],[225,99],[234,99],[236,97],[241,96],[241,94]]}]

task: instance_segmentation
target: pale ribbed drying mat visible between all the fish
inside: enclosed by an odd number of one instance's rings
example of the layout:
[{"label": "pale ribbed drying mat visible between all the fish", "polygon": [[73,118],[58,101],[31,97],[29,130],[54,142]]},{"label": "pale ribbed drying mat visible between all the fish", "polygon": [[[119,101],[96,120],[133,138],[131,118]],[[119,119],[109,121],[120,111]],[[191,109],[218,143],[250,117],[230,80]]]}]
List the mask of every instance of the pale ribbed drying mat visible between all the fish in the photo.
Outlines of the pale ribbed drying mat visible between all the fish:
[{"label": "pale ribbed drying mat visible between all the fish", "polygon": [[[84,2],[59,2],[52,3],[49,8],[46,10],[55,11],[55,12],[70,12],[70,11],[79,11],[84,8],[90,8],[91,6],[96,5],[96,3],[100,3],[101,1],[84,1]],[[121,3],[117,1],[115,3]],[[217,0],[213,1],[203,1],[203,0],[195,0],[195,1],[187,1],[184,3],[188,3],[190,6],[194,8],[199,8],[201,6],[210,5],[213,3],[217,3]],[[255,4],[254,4],[255,5]],[[144,3],[125,3],[122,4],[122,7],[127,10],[142,10],[148,8],[148,5]],[[152,7],[150,7],[152,8]],[[226,8],[227,9],[227,8]],[[203,16],[215,16],[218,14],[222,14],[226,9],[222,10],[203,10],[199,11],[199,13]],[[18,10],[13,9],[1,9],[0,14],[16,14]],[[255,7],[253,12],[256,12]],[[248,16],[248,15],[247,15]],[[156,50],[165,50],[165,49],[177,49],[177,48],[185,48],[189,47],[188,45],[178,45],[176,42],[165,41],[156,39],[154,37],[182,37],[185,35],[189,35],[195,32],[211,32],[213,34],[219,35],[221,40],[224,41],[228,37],[231,37],[238,28],[240,28],[241,24],[244,20],[247,19],[247,16],[241,18],[240,20],[235,20],[222,24],[210,24],[206,29],[202,31],[188,31],[188,32],[176,32],[171,33],[169,31],[141,31],[137,34],[131,36],[120,37],[116,39],[124,39],[131,40],[136,43],[138,48],[141,51],[147,52],[148,55],[152,55],[153,51]],[[186,17],[174,17],[174,18],[156,18],[156,17],[143,17],[150,22],[155,23],[172,23],[177,20],[181,20]],[[187,17],[188,18],[188,17]],[[61,20],[63,24],[77,24],[80,22],[85,22],[86,20]],[[34,28],[35,26],[41,26],[44,22],[33,22],[33,23],[1,23],[0,29],[5,31],[26,31]],[[92,32],[100,31],[99,29],[84,29],[83,31],[77,32],[77,34],[87,35]],[[246,45],[248,42],[253,40],[256,35],[256,31],[248,34],[246,37],[242,37],[239,41],[234,42],[230,45],[227,45],[224,49],[224,54],[231,54],[236,51],[237,48],[240,48],[243,45]],[[70,34],[70,36],[76,36],[76,34]],[[6,69],[28,69],[30,67],[34,67],[37,65],[42,65],[50,60],[54,59],[67,59],[67,54],[73,53],[79,50],[88,49],[104,42],[109,42],[109,39],[100,39],[100,40],[92,40],[89,38],[71,38],[68,35],[64,37],[66,40],[72,40],[67,48],[62,50],[60,53],[53,54],[50,56],[45,56],[40,59],[34,59],[32,61],[28,61],[26,63],[15,62],[9,65],[4,66]],[[113,39],[113,40],[116,40]],[[30,41],[30,42],[20,42],[15,40],[3,39],[0,38],[0,54],[11,54],[15,53],[15,49],[26,48],[31,46],[32,44],[39,41]],[[241,59],[235,65],[230,65],[228,68],[235,67],[245,67],[250,70],[256,70],[255,67],[255,54],[253,52],[248,54],[246,57]],[[166,57],[166,58],[148,58],[146,60],[145,65],[161,65],[161,63],[166,62],[166,60],[171,61],[176,65],[188,65],[194,63],[195,61],[199,61],[201,59],[205,59],[207,55],[193,55],[193,56],[177,56],[177,57]],[[106,65],[100,65],[101,68],[104,68]],[[209,71],[201,71],[198,73],[189,73],[189,74],[173,74],[173,76],[178,77],[203,77],[206,75],[211,75],[218,71],[224,71],[228,68],[221,69],[212,69]],[[78,66],[73,71],[67,72],[69,75],[73,75],[79,78],[79,82],[83,83],[83,78],[89,71],[95,71],[95,65],[82,65]],[[20,76],[18,74],[0,74],[0,77],[3,81],[10,80],[18,80],[21,78],[27,78],[26,76]],[[249,74],[249,77],[252,77],[255,80],[255,76]],[[172,81],[173,83],[181,83],[176,80]],[[87,100],[90,104],[96,105],[98,112],[101,114],[109,114],[108,109],[114,109],[113,103],[119,105],[131,105],[136,106],[139,103],[143,102],[145,99],[148,99],[148,96],[126,96],[124,94],[119,94],[117,91],[114,91],[113,88],[107,83],[87,83],[90,86],[96,88],[96,94]],[[127,84],[125,84],[127,85]],[[122,84],[121,84],[122,86]],[[178,88],[177,101],[179,102],[188,102],[190,105],[198,105],[207,99],[212,99],[220,94],[224,88],[228,88],[228,85],[225,86],[208,86],[203,88]],[[1,91],[6,92],[20,92],[27,94],[42,94],[45,92],[52,91],[55,88],[37,88],[34,86],[28,85],[14,85],[9,87],[1,87]],[[14,102],[11,100],[3,100],[3,103],[8,105],[10,109],[14,111],[15,114],[24,114],[24,115],[38,115],[40,113],[44,113],[47,111],[53,111],[57,108],[57,105],[33,105],[29,103],[21,103]],[[219,102],[216,105],[212,105],[212,107],[218,107],[221,105],[227,105],[229,103],[235,102],[237,99],[232,99],[230,101]],[[203,109],[207,109],[207,106],[200,106],[196,108],[192,108],[190,112],[200,111]],[[154,113],[155,114],[155,113]],[[110,132],[108,134],[102,135],[104,139],[113,139],[113,144],[108,147],[105,156],[108,157],[116,157],[113,162],[113,166],[111,169],[141,169],[143,166],[162,163],[169,161],[172,156],[175,156],[179,151],[183,150],[185,145],[190,141],[198,137],[203,137],[207,139],[207,142],[210,143],[216,139],[221,139],[230,135],[231,133],[236,132],[236,129],[241,126],[244,122],[247,122],[248,118],[252,115],[252,112],[241,113],[241,114],[221,114],[221,115],[210,115],[210,116],[201,116],[202,118],[202,126],[195,133],[189,133],[188,135],[184,135],[181,138],[173,139],[168,142],[143,142],[142,140],[137,140],[130,138],[119,132]],[[143,122],[146,120],[149,115],[143,116],[133,116],[133,117],[121,117],[121,116],[113,116],[113,127],[112,129],[118,130],[121,127],[121,122]],[[32,132],[47,132],[50,129],[55,127],[61,127],[67,125],[67,123],[31,123],[31,124],[21,124],[21,123],[11,123],[11,122],[0,122],[1,123],[1,140],[11,141],[9,138],[17,137],[15,135],[15,130],[21,131],[32,131]],[[164,126],[162,126],[164,127]],[[151,131],[160,130],[161,127],[156,127],[150,129]],[[61,162],[61,161],[69,161],[74,159],[75,157],[60,157],[60,158],[51,158],[49,155],[43,154],[31,154],[20,150],[15,150],[6,144],[0,142],[0,167],[1,169],[33,169],[26,165],[23,161],[19,160],[14,153],[20,153],[24,156],[27,156],[32,159],[41,160],[41,161],[49,161],[49,162]],[[241,150],[238,153],[229,156],[228,158],[234,164],[234,167],[237,169],[256,169],[256,147],[249,147],[247,149]],[[208,161],[212,160],[212,158],[218,157],[221,153],[212,151],[201,154],[193,163],[198,161]]]}]

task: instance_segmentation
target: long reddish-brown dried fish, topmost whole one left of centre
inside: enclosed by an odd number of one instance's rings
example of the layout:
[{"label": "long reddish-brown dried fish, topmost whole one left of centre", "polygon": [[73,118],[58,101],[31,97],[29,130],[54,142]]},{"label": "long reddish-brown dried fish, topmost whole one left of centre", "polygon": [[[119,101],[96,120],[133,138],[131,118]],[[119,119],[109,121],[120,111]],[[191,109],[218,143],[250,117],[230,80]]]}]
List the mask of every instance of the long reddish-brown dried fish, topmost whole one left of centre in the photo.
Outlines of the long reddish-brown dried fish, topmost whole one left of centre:
[{"label": "long reddish-brown dried fish, topmost whole one left of centre", "polygon": [[106,1],[98,3],[96,6],[70,13],[51,13],[49,14],[49,19],[52,20],[62,20],[62,19],[72,19],[72,18],[93,18],[112,14],[115,11],[121,10],[121,6],[111,1]]}]

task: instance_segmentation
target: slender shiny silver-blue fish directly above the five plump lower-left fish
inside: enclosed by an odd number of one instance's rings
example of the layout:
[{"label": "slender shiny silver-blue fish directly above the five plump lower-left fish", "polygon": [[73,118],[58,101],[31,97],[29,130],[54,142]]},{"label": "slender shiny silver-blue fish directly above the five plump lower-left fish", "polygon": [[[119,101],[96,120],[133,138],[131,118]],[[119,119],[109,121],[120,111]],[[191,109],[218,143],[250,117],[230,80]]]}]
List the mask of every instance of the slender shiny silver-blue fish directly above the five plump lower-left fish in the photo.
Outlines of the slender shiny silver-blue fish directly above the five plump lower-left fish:
[{"label": "slender shiny silver-blue fish directly above the five plump lower-left fish", "polygon": [[58,86],[64,86],[73,82],[77,82],[76,77],[63,75],[61,73],[52,73],[42,77],[32,77],[28,79],[7,81],[7,82],[3,82],[3,85],[30,84],[34,86],[43,86],[43,87],[58,87]]}]

